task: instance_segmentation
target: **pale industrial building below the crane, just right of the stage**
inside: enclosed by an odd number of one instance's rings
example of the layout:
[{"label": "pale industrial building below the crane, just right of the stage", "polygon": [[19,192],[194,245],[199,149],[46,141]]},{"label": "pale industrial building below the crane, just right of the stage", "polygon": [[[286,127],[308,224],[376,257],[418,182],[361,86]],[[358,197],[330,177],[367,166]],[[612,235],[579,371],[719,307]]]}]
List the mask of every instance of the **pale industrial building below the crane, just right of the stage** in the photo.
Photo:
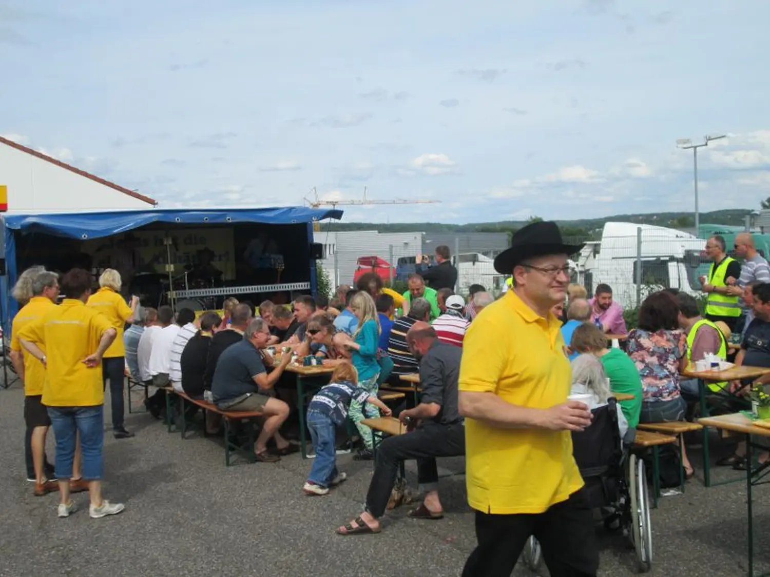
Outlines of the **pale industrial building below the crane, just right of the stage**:
[{"label": "pale industrial building below the crane, just right of the stage", "polygon": [[395,268],[402,256],[423,253],[422,232],[314,232],[313,242],[324,245],[326,258],[321,266],[329,272],[335,286],[353,284],[356,262],[362,256],[379,256]]}]

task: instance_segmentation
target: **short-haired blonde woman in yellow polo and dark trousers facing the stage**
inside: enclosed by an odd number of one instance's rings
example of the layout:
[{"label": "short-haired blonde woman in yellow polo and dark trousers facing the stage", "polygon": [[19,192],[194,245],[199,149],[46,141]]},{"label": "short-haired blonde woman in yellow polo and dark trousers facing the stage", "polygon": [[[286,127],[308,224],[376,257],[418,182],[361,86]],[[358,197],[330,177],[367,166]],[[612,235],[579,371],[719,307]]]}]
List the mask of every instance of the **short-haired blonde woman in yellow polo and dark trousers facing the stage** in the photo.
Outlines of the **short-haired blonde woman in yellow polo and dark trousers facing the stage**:
[{"label": "short-haired blonde woman in yellow polo and dark trousers facing the stage", "polygon": [[131,306],[120,294],[122,286],[120,273],[114,268],[107,268],[99,277],[99,290],[89,296],[86,305],[93,307],[107,317],[109,324],[118,332],[117,338],[109,345],[102,359],[102,380],[107,386],[109,379],[109,397],[112,405],[112,432],[115,439],[128,439],[134,436],[126,431],[123,424],[125,412],[123,402],[123,382],[126,372],[126,345],[123,344],[123,329],[134,321],[139,298],[131,297]]}]

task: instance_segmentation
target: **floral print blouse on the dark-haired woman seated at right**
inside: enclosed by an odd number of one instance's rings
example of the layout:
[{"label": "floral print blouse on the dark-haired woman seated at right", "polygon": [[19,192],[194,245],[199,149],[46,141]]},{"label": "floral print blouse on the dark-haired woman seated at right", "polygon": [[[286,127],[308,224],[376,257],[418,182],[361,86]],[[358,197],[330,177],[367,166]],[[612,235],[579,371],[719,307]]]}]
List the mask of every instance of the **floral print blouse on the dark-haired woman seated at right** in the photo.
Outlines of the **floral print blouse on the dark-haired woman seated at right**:
[{"label": "floral print blouse on the dark-haired woman seated at right", "polygon": [[687,352],[687,336],[680,330],[628,334],[628,355],[641,377],[642,400],[671,401],[679,395],[679,361]]}]

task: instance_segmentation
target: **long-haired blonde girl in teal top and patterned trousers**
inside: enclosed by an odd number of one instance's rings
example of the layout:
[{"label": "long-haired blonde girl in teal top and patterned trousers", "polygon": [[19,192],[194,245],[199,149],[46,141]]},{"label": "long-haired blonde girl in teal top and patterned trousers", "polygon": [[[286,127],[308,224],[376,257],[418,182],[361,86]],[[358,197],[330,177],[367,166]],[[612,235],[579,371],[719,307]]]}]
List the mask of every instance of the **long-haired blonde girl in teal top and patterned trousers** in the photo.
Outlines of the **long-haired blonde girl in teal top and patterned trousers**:
[{"label": "long-haired blonde girl in teal top and patterned trousers", "polygon": [[[377,319],[377,307],[374,299],[367,292],[358,292],[350,301],[350,310],[358,318],[358,328],[353,332],[353,337],[344,333],[334,335],[337,345],[345,345],[353,351],[353,366],[358,372],[358,383],[361,389],[365,389],[372,396],[377,396],[377,378],[380,376],[380,363],[377,362],[377,342],[380,341],[380,321]],[[366,416],[364,416],[366,413]],[[367,461],[373,458],[372,430],[366,425],[361,425],[363,419],[377,418],[380,412],[370,403],[362,405],[360,402],[350,403],[348,411],[350,420],[355,423],[358,432],[363,439],[364,446],[359,449],[353,459]]]}]

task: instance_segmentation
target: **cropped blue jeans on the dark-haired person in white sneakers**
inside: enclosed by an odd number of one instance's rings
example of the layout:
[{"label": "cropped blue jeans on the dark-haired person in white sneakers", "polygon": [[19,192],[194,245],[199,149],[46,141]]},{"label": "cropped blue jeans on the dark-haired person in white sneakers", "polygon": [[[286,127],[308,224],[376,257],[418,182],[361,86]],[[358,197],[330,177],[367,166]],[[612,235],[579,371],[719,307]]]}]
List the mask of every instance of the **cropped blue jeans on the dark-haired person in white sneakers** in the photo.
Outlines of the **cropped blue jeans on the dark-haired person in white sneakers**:
[{"label": "cropped blue jeans on the dark-haired person in white sneakers", "polygon": [[49,417],[56,437],[56,475],[72,478],[75,442],[80,433],[83,455],[83,479],[102,479],[104,470],[104,406],[49,407]]}]

